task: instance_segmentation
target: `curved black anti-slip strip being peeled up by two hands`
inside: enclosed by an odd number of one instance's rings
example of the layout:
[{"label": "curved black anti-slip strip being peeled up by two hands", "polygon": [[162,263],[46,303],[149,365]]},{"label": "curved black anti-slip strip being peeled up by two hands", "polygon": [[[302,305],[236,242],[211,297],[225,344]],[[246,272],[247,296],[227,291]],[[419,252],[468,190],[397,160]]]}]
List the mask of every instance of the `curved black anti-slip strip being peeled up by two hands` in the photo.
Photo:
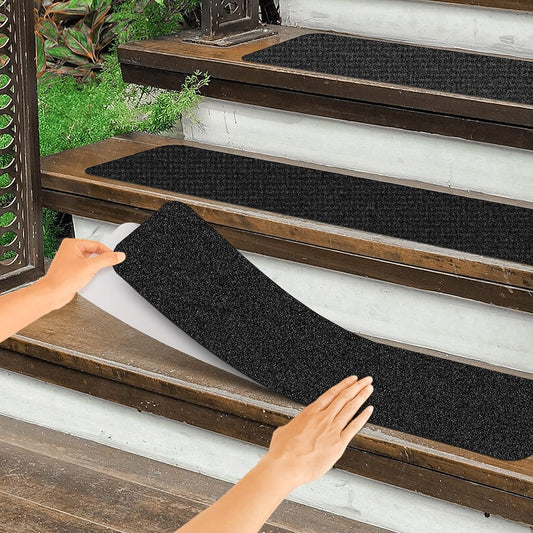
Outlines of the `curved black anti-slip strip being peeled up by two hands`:
[{"label": "curved black anti-slip strip being peeled up by two hands", "polygon": [[348,375],[371,375],[374,424],[500,459],[533,454],[533,380],[337,326],[185,204],[166,204],[116,249],[127,257],[115,270],[146,300],[212,353],[292,400],[308,404]]}]

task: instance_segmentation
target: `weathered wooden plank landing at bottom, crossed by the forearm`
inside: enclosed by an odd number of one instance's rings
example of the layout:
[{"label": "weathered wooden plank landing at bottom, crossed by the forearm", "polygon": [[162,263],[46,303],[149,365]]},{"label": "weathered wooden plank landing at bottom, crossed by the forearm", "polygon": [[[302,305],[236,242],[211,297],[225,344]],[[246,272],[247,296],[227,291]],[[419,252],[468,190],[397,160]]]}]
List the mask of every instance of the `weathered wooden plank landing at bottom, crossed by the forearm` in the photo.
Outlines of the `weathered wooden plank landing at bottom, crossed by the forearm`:
[{"label": "weathered wooden plank landing at bottom, crossed by the forearm", "polygon": [[[6,417],[0,417],[0,443],[0,509],[10,532],[37,525],[41,532],[54,533],[174,531],[231,487],[196,472]],[[287,500],[261,531],[326,533],[330,528],[386,533]]]}]

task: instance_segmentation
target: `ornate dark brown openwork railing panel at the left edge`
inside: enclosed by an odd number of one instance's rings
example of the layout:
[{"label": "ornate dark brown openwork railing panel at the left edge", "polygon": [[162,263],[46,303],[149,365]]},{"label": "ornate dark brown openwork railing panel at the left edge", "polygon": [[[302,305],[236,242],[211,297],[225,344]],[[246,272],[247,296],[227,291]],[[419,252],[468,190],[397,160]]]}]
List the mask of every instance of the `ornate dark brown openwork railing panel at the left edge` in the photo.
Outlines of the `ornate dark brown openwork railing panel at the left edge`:
[{"label": "ornate dark brown openwork railing panel at the left edge", "polygon": [[0,290],[43,271],[33,0],[0,0]]}]

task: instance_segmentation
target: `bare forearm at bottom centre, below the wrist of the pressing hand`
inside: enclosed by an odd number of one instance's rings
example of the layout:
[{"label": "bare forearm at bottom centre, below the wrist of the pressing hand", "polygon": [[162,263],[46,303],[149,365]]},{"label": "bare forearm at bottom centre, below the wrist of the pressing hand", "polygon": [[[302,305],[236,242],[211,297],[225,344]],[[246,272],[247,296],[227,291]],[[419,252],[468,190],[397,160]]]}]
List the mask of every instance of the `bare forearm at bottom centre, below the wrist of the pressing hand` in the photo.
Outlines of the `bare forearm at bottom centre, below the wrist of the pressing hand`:
[{"label": "bare forearm at bottom centre, below the wrist of the pressing hand", "polygon": [[220,500],[178,531],[257,533],[276,507],[297,486],[296,480],[291,479],[281,464],[264,456]]}]

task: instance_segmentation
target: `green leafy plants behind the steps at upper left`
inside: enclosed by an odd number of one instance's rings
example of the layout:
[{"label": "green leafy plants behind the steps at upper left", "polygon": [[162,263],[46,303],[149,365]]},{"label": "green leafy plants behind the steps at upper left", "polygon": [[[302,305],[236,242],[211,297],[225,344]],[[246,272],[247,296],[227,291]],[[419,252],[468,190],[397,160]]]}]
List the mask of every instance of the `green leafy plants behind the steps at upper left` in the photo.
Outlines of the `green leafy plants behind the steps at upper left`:
[{"label": "green leafy plants behind the steps at upper left", "polygon": [[[44,9],[42,13],[56,4],[62,4],[54,8],[58,11],[83,7],[84,14],[81,10],[77,15],[65,14],[59,17],[56,14],[62,25],[60,27],[64,29],[75,26],[81,20],[84,20],[81,25],[89,28],[85,21],[89,24],[95,22],[95,13],[101,13],[99,9],[102,8],[102,3],[98,3],[98,0],[36,1]],[[76,148],[131,131],[162,132],[173,127],[181,114],[190,112],[200,99],[201,87],[209,82],[207,74],[195,72],[188,76],[180,91],[162,91],[127,84],[122,79],[116,47],[128,40],[168,35],[186,27],[190,13],[199,3],[199,0],[113,0],[112,9],[106,12],[101,32],[112,30],[114,39],[106,47],[98,48],[95,45],[94,49],[98,49],[100,54],[96,62],[83,65],[81,59],[80,64],[65,59],[53,62],[47,59],[45,70],[41,70],[38,80],[41,155]],[[50,39],[45,36],[45,32]],[[54,28],[46,24],[41,34],[44,41],[42,55],[45,50],[56,46],[54,43],[58,43],[59,39],[56,38]],[[76,36],[79,37],[75,33],[74,37]],[[101,36],[102,33],[100,44]],[[83,44],[81,37],[78,41]],[[87,46],[76,48],[80,45],[70,40],[68,43],[72,47],[69,48],[71,53],[78,55],[80,52],[78,57],[87,61],[88,55],[81,53],[82,50],[89,50]],[[67,44],[65,46],[68,48]],[[45,55],[48,58],[48,54]],[[52,257],[63,230],[61,215],[45,209],[43,219],[45,254]]]}]

